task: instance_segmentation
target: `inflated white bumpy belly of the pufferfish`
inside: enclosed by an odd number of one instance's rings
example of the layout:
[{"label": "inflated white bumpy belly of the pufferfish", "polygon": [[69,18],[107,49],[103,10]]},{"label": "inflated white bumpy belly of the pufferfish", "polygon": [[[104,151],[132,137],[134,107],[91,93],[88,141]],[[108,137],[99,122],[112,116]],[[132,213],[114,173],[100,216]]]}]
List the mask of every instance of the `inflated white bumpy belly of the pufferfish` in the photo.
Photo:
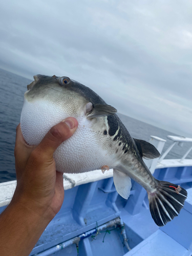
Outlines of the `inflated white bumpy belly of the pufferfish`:
[{"label": "inflated white bumpy belly of the pufferfish", "polygon": [[116,157],[110,146],[111,138],[103,135],[102,127],[100,131],[94,130],[85,115],[64,113],[49,101],[25,100],[20,123],[26,142],[30,145],[39,144],[52,126],[70,116],[78,120],[78,128],[55,151],[56,169],[63,173],[83,173],[100,169],[103,165],[113,168]]}]

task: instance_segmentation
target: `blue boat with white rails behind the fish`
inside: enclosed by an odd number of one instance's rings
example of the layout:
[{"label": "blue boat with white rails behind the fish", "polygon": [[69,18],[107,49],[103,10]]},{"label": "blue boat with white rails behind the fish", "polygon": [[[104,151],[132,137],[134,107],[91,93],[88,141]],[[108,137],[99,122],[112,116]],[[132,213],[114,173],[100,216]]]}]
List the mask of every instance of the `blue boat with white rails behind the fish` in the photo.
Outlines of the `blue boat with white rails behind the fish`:
[{"label": "blue boat with white rails behind the fish", "polygon": [[[192,159],[165,159],[177,143],[192,138],[167,136],[173,141],[159,159],[145,160],[155,178],[187,189],[188,198],[179,217],[158,227],[150,214],[145,189],[132,181],[128,200],[118,195],[113,170],[64,174],[65,200],[42,233],[30,255],[35,256],[191,256]],[[166,140],[151,136],[161,153]],[[0,183],[0,212],[11,201],[16,181]],[[25,245],[24,245],[25,246]]]}]

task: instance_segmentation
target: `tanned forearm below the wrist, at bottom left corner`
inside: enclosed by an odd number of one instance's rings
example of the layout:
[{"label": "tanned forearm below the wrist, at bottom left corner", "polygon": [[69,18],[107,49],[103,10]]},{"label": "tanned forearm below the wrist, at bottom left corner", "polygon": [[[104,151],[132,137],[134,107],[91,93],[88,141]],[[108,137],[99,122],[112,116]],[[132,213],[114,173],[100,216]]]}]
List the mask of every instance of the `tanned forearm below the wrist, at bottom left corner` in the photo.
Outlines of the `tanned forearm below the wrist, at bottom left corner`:
[{"label": "tanned forearm below the wrist, at bottom left corner", "polygon": [[27,256],[51,218],[29,205],[11,202],[0,216],[0,255]]}]

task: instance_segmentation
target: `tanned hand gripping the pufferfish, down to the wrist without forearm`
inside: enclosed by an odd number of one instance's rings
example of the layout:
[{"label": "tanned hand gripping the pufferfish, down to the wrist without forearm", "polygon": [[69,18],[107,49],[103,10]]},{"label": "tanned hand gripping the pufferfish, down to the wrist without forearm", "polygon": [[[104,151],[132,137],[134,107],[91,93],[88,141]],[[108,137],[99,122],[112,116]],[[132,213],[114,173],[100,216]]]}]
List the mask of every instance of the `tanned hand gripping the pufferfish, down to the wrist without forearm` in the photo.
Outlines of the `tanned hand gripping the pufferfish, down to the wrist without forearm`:
[{"label": "tanned hand gripping the pufferfish, down to the wrist without forearm", "polygon": [[55,169],[53,153],[74,134],[78,126],[73,117],[64,121],[53,126],[37,146],[25,142],[20,124],[16,129],[17,186],[12,203],[20,203],[28,210],[35,211],[35,214],[46,215],[50,220],[59,211],[64,198],[62,173]]}]

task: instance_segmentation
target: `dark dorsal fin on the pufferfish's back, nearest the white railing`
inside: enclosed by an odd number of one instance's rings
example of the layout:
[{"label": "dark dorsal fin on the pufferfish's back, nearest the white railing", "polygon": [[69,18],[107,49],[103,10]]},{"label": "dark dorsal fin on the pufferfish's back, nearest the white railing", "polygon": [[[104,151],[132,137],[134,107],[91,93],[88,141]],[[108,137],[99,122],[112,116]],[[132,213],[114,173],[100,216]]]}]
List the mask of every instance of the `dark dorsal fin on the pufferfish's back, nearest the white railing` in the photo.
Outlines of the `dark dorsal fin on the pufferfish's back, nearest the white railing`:
[{"label": "dark dorsal fin on the pufferfish's back, nearest the white railing", "polygon": [[134,139],[134,141],[141,157],[144,157],[145,159],[154,159],[161,156],[157,148],[151,143],[138,139]]}]

